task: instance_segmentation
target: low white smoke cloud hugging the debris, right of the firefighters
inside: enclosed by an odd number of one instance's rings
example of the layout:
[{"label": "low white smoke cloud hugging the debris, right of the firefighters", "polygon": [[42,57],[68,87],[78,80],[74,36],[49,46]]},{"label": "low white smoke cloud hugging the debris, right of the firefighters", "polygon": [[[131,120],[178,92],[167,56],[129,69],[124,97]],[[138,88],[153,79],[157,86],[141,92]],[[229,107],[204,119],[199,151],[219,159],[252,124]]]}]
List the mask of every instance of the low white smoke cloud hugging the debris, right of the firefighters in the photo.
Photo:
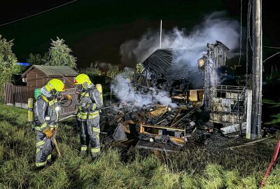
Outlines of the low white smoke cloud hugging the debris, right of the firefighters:
[{"label": "low white smoke cloud hugging the debris, right of the firefighters", "polygon": [[148,92],[141,93],[140,91],[134,90],[134,86],[131,85],[129,78],[121,75],[116,76],[111,88],[118,99],[120,99],[120,102],[132,106],[142,107],[156,102],[165,106],[176,106],[176,104],[172,103],[172,99],[167,92],[155,91],[151,88]]}]

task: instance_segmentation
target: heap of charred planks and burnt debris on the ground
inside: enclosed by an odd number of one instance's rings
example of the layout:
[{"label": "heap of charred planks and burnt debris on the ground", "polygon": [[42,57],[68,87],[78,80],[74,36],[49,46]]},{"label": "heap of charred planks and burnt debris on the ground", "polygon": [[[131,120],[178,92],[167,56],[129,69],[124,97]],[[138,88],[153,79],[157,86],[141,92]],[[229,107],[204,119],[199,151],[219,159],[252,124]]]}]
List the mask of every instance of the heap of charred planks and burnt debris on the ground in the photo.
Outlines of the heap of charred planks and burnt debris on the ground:
[{"label": "heap of charred planks and burnt debris on the ground", "polygon": [[187,141],[207,138],[204,133],[213,132],[210,126],[204,125],[207,118],[202,118],[202,105],[202,101],[180,103],[176,107],[155,103],[142,107],[119,104],[106,112],[104,129],[113,130],[116,141],[138,141],[137,148],[179,151]]}]

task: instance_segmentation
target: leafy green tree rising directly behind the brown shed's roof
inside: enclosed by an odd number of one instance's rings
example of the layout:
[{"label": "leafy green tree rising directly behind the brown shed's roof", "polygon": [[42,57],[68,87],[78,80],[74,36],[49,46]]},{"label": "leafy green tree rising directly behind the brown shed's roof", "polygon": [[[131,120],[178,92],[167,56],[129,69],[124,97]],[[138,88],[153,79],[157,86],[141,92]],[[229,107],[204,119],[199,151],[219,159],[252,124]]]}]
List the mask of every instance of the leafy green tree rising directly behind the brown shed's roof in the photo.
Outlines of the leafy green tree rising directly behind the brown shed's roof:
[{"label": "leafy green tree rising directly behind the brown shed's roof", "polygon": [[64,44],[63,38],[58,38],[57,41],[50,43],[51,47],[48,50],[48,62],[49,66],[70,66],[76,68],[76,57],[70,55],[71,48]]}]

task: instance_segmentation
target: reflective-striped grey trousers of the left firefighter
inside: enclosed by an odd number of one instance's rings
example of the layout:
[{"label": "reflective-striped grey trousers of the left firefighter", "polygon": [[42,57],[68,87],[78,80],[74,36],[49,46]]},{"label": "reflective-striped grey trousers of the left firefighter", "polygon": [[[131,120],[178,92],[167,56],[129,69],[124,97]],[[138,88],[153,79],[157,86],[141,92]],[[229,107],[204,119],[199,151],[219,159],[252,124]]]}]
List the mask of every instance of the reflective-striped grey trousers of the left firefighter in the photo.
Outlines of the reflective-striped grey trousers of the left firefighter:
[{"label": "reflective-striped grey trousers of the left firefighter", "polygon": [[35,155],[35,162],[36,167],[44,166],[48,160],[52,158],[52,150],[55,147],[52,139],[55,137],[56,134],[50,139],[45,137],[45,134],[40,131],[35,132],[36,135],[36,155]]}]

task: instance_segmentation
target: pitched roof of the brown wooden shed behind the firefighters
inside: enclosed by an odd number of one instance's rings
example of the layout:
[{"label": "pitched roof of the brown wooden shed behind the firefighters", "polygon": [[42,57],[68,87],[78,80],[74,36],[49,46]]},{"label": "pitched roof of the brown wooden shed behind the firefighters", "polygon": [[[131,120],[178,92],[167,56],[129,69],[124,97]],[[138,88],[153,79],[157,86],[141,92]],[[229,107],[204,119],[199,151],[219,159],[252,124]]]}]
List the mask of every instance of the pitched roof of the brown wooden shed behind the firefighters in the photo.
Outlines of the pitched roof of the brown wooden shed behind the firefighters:
[{"label": "pitched roof of the brown wooden shed behind the firefighters", "polygon": [[25,76],[31,69],[36,68],[45,73],[46,76],[77,76],[79,73],[69,66],[43,66],[33,65],[22,76]]}]

